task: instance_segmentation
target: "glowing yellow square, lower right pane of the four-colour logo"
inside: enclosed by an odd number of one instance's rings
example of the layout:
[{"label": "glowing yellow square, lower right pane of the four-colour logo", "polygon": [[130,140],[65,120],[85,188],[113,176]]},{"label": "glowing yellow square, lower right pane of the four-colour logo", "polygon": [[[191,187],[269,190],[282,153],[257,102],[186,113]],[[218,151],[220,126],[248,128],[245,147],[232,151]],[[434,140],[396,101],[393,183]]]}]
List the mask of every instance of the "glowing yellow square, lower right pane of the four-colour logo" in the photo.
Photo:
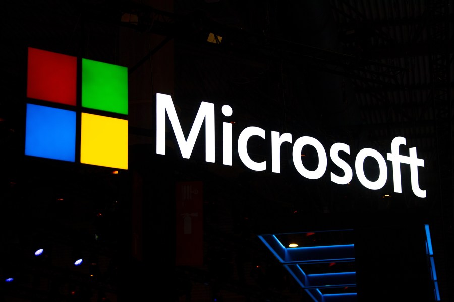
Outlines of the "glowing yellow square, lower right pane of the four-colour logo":
[{"label": "glowing yellow square, lower right pane of the four-colour logo", "polygon": [[128,169],[128,121],[82,113],[80,162]]}]

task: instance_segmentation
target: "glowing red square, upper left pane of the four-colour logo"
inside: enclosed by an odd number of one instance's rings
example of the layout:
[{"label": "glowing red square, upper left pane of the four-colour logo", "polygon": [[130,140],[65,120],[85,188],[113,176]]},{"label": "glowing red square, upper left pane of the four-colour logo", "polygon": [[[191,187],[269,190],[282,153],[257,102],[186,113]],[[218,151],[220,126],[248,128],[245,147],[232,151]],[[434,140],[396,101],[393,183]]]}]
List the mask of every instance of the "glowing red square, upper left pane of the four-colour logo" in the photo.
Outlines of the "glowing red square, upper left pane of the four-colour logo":
[{"label": "glowing red square, upper left pane of the four-colour logo", "polygon": [[77,58],[28,48],[27,97],[76,105]]}]

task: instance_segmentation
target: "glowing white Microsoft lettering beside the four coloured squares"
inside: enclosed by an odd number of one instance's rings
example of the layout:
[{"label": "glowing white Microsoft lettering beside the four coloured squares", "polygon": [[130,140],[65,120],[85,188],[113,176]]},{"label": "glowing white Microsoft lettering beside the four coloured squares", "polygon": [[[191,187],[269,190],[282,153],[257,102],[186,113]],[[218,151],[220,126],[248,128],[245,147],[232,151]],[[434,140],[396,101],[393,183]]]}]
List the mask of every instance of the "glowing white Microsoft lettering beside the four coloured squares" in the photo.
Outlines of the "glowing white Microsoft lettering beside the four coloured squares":
[{"label": "glowing white Microsoft lettering beside the four coloured squares", "polygon": [[[233,113],[229,105],[222,106],[222,114],[226,117],[231,116]],[[180,148],[183,158],[189,159],[195,142],[199,135],[202,124],[205,123],[205,161],[215,162],[215,118],[214,118],[214,104],[208,102],[201,102],[194,123],[189,132],[188,138],[185,138],[183,130],[178,119],[171,96],[160,94],[156,95],[156,154],[165,155],[165,133],[166,133],[166,116],[172,125],[178,146]],[[247,144],[252,136],[258,136],[266,139],[266,131],[259,127],[247,127],[243,129],[238,137],[238,155],[242,163],[251,170],[263,171],[266,169],[266,161],[256,162],[251,159],[248,154]],[[223,122],[222,126],[222,164],[232,165],[232,124]],[[271,171],[280,173],[280,148],[283,143],[292,143],[292,134],[279,133],[271,131]],[[318,166],[315,170],[308,170],[301,160],[301,151],[304,146],[310,145],[315,148],[318,155]],[[387,160],[392,162],[392,176],[394,192],[402,193],[401,182],[401,164],[410,165],[411,186],[413,193],[421,198],[426,197],[426,191],[421,190],[418,180],[418,167],[424,167],[424,160],[417,158],[416,147],[409,149],[409,156],[399,154],[399,147],[406,145],[404,137],[395,137],[391,142],[391,152],[387,153]],[[332,162],[344,171],[344,175],[336,175],[330,172],[330,179],[336,184],[347,184],[353,178],[353,170],[350,165],[345,162],[339,153],[346,153],[350,155],[350,146],[337,142],[334,143],[330,150],[329,156]],[[364,161],[366,158],[373,158],[378,163],[379,175],[376,180],[369,180],[364,173]],[[314,137],[302,136],[293,142],[292,149],[293,164],[303,177],[308,179],[321,178],[327,169],[327,154],[322,143]],[[361,149],[355,158],[355,172],[359,182],[366,188],[371,190],[381,189],[388,178],[388,169],[385,159],[375,149],[364,148]]]}]

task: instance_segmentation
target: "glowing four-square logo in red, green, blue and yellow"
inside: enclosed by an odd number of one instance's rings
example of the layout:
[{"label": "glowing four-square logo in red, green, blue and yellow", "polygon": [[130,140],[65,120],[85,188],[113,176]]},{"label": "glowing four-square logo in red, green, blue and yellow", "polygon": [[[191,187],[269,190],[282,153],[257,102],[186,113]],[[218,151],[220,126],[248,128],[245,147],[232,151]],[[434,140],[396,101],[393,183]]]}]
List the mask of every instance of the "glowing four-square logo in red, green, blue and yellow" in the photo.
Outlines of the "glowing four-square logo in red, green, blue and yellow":
[{"label": "glowing four-square logo in red, green, blue and yellow", "polygon": [[27,98],[26,155],[128,169],[126,67],[28,48]]}]

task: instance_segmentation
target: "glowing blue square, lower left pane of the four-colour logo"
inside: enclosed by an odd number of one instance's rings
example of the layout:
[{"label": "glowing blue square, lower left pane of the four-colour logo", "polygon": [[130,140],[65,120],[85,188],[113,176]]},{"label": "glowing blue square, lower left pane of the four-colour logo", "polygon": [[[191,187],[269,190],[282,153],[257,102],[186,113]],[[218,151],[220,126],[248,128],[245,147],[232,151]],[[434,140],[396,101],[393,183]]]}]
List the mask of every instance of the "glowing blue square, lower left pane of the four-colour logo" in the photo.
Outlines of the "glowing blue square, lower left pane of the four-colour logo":
[{"label": "glowing blue square, lower left pane of the four-colour logo", "polygon": [[25,155],[75,161],[76,112],[27,104]]}]

